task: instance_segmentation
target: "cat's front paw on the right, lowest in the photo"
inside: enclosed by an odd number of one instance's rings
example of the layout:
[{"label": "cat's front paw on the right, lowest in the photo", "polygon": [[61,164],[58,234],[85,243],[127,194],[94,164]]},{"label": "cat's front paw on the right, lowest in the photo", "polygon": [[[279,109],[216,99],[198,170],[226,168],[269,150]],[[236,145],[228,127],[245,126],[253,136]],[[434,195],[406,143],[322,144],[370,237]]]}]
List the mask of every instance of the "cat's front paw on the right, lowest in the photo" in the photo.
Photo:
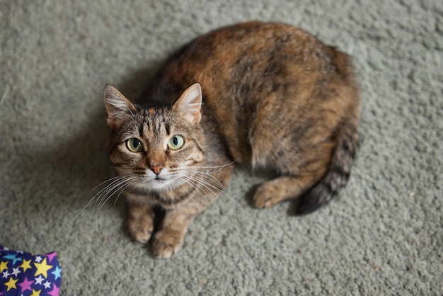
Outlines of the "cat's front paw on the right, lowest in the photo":
[{"label": "cat's front paw on the right, lowest in the photo", "polygon": [[152,252],[159,258],[169,258],[180,251],[183,239],[183,233],[163,229],[154,235]]}]

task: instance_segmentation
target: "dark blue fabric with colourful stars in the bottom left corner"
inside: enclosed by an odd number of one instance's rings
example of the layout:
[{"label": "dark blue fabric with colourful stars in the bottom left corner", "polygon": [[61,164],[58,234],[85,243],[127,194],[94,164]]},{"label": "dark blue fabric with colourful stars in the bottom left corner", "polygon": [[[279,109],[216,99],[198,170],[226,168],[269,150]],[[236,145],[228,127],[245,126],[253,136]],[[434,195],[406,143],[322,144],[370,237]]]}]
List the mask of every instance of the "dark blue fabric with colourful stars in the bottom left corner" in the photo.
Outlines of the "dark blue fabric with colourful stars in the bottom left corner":
[{"label": "dark blue fabric with colourful stars in the bottom left corner", "polygon": [[33,256],[0,246],[0,296],[58,296],[61,283],[55,252]]}]

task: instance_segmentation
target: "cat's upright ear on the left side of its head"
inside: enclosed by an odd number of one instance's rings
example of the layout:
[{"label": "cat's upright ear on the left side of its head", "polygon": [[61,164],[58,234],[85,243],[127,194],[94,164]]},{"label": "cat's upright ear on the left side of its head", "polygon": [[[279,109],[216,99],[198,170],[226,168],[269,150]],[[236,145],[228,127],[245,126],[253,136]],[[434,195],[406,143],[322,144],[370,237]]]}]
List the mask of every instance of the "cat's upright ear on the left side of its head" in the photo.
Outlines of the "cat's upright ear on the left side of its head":
[{"label": "cat's upright ear on the left side of its head", "polygon": [[103,96],[105,97],[106,113],[108,113],[108,125],[111,128],[120,125],[122,118],[128,112],[134,113],[134,105],[113,86],[105,86]]}]

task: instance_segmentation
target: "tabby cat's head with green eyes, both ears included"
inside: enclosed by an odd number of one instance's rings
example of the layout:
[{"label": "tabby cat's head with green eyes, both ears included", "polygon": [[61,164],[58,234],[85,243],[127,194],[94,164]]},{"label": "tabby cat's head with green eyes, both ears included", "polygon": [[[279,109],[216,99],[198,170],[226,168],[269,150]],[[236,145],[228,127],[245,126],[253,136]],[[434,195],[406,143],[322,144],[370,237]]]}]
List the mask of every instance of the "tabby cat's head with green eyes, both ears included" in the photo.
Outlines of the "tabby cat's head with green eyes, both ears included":
[{"label": "tabby cat's head with green eyes, both ears included", "polygon": [[104,91],[110,161],[130,186],[164,190],[192,181],[204,161],[202,91],[193,84],[170,108],[137,106],[113,86]]}]

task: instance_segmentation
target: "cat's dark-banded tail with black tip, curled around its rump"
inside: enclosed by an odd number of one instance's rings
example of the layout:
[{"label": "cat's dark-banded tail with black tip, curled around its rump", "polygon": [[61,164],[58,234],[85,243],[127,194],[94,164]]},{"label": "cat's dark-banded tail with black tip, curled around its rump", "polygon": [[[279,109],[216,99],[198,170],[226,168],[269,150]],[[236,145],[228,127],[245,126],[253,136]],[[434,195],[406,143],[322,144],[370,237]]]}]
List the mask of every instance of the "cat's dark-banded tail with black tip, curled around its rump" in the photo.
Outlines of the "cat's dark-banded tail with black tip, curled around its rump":
[{"label": "cat's dark-banded tail with black tip, curled around its rump", "polygon": [[338,130],[337,146],[325,176],[299,198],[296,215],[306,215],[328,203],[346,186],[357,150],[358,117],[352,117]]}]

